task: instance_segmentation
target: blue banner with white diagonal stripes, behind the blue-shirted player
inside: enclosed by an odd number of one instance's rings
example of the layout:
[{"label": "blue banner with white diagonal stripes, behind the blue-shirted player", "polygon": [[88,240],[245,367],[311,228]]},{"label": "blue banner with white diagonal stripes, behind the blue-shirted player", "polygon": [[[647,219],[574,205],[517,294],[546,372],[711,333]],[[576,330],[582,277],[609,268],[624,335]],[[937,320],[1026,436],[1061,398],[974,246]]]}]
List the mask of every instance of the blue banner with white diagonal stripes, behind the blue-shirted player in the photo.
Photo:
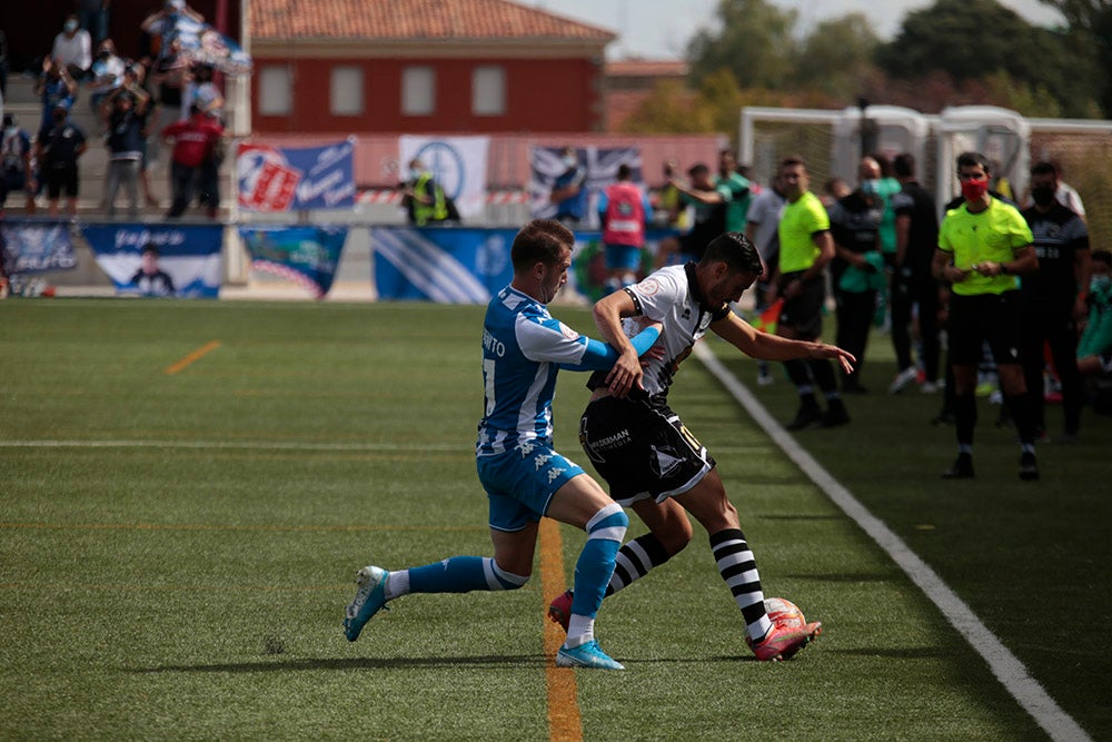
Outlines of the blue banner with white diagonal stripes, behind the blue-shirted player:
[{"label": "blue banner with white diagonal stripes, behind the blue-shirted player", "polygon": [[375,227],[380,299],[486,304],[514,278],[516,229]]}]

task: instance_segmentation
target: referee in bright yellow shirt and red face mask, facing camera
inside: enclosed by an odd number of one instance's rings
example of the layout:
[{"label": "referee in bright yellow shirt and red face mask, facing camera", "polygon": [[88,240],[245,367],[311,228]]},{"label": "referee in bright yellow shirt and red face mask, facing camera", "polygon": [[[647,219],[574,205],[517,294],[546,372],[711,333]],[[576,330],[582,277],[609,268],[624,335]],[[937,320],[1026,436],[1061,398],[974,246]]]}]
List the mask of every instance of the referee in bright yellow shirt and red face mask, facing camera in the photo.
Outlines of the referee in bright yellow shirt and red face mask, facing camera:
[{"label": "referee in bright yellow shirt and red face mask, facing camera", "polygon": [[964,201],[939,229],[934,277],[952,285],[950,364],[953,367],[957,458],[944,478],[973,477],[976,370],[985,343],[992,350],[1005,402],[1020,435],[1020,478],[1035,481],[1034,415],[1020,358],[1020,291],[1016,276],[1039,269],[1031,228],[1019,210],[989,195],[991,169],[980,152],[957,156]]}]

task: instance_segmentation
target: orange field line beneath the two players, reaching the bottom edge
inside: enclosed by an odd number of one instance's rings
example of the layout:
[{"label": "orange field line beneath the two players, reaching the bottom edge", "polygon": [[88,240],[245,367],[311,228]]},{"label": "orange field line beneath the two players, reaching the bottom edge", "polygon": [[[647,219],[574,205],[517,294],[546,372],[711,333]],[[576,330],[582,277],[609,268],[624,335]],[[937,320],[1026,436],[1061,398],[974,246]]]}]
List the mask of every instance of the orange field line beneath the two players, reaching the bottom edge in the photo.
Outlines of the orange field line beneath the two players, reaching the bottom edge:
[{"label": "orange field line beneath the two players, reaching the bottom edge", "polygon": [[[540,593],[548,601],[566,590],[564,542],[559,524],[540,518]],[[545,684],[548,687],[548,739],[556,742],[582,742],[583,722],[575,684],[575,671],[556,666],[556,651],[564,643],[564,632],[555,623],[545,625]]]}]

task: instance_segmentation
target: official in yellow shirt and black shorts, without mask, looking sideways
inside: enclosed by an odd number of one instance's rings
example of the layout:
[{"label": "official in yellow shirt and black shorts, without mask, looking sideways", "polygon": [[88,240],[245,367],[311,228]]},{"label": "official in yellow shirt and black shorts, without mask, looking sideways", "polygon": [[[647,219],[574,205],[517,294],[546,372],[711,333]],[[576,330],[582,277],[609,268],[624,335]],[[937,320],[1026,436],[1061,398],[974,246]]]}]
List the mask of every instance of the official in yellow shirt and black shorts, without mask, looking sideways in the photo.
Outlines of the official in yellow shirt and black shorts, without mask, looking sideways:
[{"label": "official in yellow shirt and black shorts, without mask, looking sideways", "polygon": [[[817,340],[823,334],[823,306],[826,303],[826,266],[834,258],[830,216],[818,197],[811,192],[807,166],[797,157],[781,162],[780,185],[787,199],[780,218],[780,266],[777,279],[770,283],[770,304],[784,297],[776,334],[793,340]],[[814,423],[837,427],[850,422],[838,393],[834,366],[825,358],[784,363],[788,378],[800,394],[800,409],[787,424],[802,431]],[[826,398],[823,413],[815,386]]]}]

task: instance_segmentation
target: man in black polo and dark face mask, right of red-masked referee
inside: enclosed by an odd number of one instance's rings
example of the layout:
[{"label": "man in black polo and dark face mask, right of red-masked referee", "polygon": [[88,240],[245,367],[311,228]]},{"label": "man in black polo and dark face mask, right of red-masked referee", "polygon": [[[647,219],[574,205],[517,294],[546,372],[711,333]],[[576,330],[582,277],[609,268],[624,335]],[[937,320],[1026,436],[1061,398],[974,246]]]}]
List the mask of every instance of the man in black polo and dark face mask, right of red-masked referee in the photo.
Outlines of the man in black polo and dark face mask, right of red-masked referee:
[{"label": "man in black polo and dark face mask, right of red-masked referee", "polygon": [[1023,336],[1020,357],[1040,437],[1046,432],[1043,399],[1043,345],[1050,345],[1054,368],[1062,382],[1065,429],[1061,441],[1073,441],[1081,426],[1081,374],[1078,372],[1078,320],[1085,317],[1084,290],[1092,270],[1089,229],[1081,217],[1055,197],[1058,169],[1050,162],[1031,168],[1034,204],[1023,218],[1034,236],[1039,271],[1020,284]]}]

